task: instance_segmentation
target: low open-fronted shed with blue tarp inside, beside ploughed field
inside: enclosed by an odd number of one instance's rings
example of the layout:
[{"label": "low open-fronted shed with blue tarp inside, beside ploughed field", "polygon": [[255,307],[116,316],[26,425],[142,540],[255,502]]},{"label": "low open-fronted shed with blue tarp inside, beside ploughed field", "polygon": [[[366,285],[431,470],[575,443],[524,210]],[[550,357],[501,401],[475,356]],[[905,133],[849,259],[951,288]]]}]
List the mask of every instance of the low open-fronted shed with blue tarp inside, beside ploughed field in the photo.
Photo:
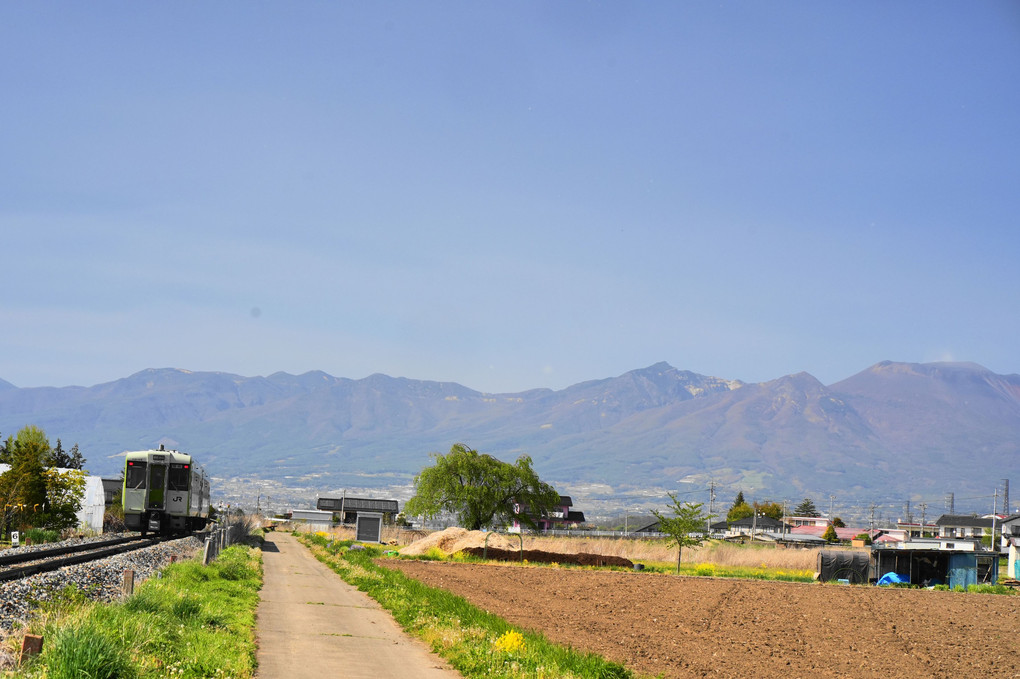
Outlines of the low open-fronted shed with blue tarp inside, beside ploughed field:
[{"label": "low open-fronted shed with blue tarp inside, beside ploughed field", "polygon": [[999,555],[959,540],[876,544],[871,549],[871,578],[877,581],[886,573],[923,586],[992,584],[999,579]]}]

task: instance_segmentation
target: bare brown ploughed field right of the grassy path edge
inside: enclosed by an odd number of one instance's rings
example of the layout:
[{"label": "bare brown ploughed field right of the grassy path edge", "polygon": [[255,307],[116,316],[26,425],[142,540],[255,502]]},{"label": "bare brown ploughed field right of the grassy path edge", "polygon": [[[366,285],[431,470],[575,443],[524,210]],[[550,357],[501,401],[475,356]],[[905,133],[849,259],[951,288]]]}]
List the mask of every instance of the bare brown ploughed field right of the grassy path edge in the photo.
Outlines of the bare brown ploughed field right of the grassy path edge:
[{"label": "bare brown ploughed field right of the grassy path edge", "polygon": [[520,628],[665,677],[1020,677],[1020,597],[384,560]]}]

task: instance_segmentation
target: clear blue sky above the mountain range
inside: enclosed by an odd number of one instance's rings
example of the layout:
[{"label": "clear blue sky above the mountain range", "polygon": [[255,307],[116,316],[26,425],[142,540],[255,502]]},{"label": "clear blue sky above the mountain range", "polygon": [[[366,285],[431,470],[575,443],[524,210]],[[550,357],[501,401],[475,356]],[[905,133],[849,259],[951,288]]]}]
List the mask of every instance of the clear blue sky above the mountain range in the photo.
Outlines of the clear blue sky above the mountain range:
[{"label": "clear blue sky above the mountain range", "polygon": [[1020,372],[1015,2],[0,4],[0,378]]}]

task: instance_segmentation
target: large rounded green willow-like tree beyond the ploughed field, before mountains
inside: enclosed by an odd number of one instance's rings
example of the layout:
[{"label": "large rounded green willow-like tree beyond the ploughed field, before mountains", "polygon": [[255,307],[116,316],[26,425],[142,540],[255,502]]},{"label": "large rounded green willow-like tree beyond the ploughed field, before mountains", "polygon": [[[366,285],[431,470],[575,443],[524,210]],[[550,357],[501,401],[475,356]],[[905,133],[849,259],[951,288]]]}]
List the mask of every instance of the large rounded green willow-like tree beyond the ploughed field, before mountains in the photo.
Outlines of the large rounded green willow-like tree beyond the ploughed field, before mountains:
[{"label": "large rounded green willow-like tree beyond the ploughed field, before mountains", "polygon": [[511,465],[455,443],[448,454],[431,457],[436,464],[414,477],[414,497],[404,506],[405,514],[431,518],[451,512],[468,530],[513,519],[533,528],[536,517],[559,504],[559,493],[539,480],[527,456]]}]

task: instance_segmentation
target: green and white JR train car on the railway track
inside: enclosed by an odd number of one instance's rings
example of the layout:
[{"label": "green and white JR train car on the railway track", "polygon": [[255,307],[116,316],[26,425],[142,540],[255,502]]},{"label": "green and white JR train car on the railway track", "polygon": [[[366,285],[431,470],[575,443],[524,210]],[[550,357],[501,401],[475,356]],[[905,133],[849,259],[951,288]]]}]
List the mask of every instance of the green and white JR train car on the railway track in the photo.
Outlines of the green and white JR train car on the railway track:
[{"label": "green and white JR train car on the railway track", "polygon": [[201,530],[209,520],[209,479],[192,456],[139,451],[124,456],[123,509],[129,530],[170,535]]}]

